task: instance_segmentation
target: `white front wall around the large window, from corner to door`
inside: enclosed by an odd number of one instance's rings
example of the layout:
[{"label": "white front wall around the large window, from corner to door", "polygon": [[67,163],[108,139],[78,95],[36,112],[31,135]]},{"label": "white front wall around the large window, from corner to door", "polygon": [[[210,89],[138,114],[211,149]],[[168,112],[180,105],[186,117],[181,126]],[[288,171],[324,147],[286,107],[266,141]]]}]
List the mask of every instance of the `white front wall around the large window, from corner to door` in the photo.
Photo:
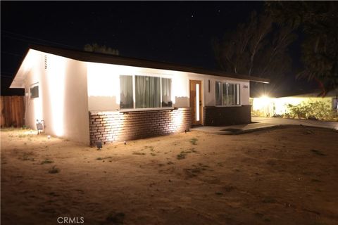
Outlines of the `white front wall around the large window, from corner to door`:
[{"label": "white front wall around the large window, from corner to door", "polygon": [[173,105],[175,107],[189,107],[189,77],[187,73],[104,63],[87,63],[87,70],[90,111],[120,109],[120,75],[171,78]]}]

